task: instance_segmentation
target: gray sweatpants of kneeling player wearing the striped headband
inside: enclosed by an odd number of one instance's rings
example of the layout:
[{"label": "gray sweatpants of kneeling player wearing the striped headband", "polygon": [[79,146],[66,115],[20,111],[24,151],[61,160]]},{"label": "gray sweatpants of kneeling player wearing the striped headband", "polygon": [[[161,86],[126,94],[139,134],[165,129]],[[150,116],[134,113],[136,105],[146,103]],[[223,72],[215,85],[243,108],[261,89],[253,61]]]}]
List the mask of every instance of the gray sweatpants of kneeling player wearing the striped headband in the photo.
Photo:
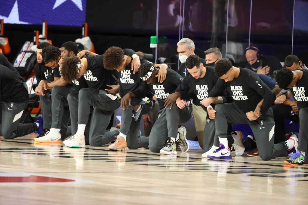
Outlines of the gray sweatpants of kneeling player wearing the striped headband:
[{"label": "gray sweatpants of kneeling player wearing the striped headband", "polygon": [[168,138],[177,136],[179,123],[187,122],[192,115],[191,105],[179,109],[176,104],[173,104],[172,109],[170,105],[161,109],[150,133],[149,149],[152,152],[160,152]]}]

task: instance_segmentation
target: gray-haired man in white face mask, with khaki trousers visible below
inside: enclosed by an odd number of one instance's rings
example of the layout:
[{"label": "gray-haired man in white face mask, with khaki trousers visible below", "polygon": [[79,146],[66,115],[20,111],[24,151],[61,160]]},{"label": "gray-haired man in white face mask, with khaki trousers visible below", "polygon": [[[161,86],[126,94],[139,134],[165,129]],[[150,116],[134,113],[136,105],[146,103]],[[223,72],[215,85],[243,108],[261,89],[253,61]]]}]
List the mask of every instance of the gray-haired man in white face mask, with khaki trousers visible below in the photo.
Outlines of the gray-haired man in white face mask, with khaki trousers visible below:
[{"label": "gray-haired man in white face mask, with khaki trousers visible below", "polygon": [[[181,62],[178,73],[184,78],[186,75],[191,75],[186,66],[186,59],[195,54],[195,44],[189,38],[182,38],[177,44],[177,52],[179,53],[179,60]],[[203,65],[206,64],[205,59],[200,58]],[[201,106],[193,104],[193,117],[200,147],[203,149],[203,131],[206,124],[206,112]]]}]

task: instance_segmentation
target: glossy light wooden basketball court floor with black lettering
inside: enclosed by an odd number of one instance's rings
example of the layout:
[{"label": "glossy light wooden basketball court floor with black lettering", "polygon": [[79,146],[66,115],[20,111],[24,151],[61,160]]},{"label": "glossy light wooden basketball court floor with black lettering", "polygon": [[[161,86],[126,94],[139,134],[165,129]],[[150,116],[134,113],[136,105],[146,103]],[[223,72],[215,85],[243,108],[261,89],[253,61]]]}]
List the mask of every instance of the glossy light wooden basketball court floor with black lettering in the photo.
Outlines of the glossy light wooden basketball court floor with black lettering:
[{"label": "glossy light wooden basketball court floor with black lettering", "polygon": [[0,140],[0,204],[307,204],[308,166]]}]

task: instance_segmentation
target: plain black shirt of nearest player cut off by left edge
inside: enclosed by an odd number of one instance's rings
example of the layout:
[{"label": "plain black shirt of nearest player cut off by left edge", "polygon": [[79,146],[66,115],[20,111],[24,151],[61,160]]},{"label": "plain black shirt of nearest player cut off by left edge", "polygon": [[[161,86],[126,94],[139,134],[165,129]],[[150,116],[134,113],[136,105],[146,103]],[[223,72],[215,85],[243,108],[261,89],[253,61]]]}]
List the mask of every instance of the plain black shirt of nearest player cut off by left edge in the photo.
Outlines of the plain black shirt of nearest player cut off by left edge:
[{"label": "plain black shirt of nearest player cut off by left edge", "polygon": [[24,102],[29,97],[28,90],[16,74],[0,65],[0,101]]}]

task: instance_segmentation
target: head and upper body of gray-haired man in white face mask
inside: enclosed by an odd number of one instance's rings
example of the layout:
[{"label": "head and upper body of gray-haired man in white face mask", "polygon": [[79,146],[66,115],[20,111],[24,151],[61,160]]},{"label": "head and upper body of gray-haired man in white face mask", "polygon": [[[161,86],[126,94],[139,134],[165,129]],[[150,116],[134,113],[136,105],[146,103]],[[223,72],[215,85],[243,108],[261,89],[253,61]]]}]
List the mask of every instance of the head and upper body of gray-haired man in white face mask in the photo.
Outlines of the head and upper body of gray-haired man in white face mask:
[{"label": "head and upper body of gray-haired man in white face mask", "polygon": [[[184,78],[189,72],[186,69],[186,59],[195,54],[195,44],[189,38],[182,38],[177,44],[177,52],[179,53],[179,60],[181,62],[178,73]],[[205,65],[205,59],[201,58],[201,62]]]}]

